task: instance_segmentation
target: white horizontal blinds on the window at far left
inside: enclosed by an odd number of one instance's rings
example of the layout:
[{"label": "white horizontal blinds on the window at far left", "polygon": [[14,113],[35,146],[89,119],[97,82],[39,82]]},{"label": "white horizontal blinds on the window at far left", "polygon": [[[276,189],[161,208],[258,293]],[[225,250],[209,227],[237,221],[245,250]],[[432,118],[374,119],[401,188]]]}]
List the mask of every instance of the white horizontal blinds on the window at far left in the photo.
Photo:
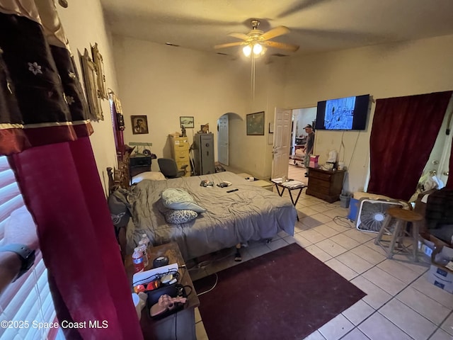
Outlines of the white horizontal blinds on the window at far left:
[{"label": "white horizontal blinds on the window at far left", "polygon": [[[6,157],[0,157],[0,244],[4,244],[4,228],[11,212],[23,207],[23,198]],[[33,322],[54,322],[55,307],[47,282],[47,268],[37,251],[35,265],[0,295],[0,322],[18,322],[0,327],[0,339],[48,339],[50,329],[33,327]],[[25,322],[28,322],[26,326]]]}]

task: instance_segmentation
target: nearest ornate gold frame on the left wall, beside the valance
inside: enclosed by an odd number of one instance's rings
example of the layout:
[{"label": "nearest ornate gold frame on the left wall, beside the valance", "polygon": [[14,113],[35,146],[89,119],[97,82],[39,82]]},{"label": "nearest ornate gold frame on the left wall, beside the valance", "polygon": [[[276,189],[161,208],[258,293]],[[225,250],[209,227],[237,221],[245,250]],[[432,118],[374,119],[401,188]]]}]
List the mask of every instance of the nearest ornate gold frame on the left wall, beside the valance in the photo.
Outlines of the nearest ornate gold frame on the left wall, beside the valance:
[{"label": "nearest ornate gold frame on the left wall, beside the valance", "polygon": [[98,84],[96,81],[96,66],[91,60],[88,50],[84,50],[84,55],[80,55],[82,74],[84,76],[86,101],[90,111],[90,119],[97,122],[104,120],[102,112],[101,98],[98,97]]}]

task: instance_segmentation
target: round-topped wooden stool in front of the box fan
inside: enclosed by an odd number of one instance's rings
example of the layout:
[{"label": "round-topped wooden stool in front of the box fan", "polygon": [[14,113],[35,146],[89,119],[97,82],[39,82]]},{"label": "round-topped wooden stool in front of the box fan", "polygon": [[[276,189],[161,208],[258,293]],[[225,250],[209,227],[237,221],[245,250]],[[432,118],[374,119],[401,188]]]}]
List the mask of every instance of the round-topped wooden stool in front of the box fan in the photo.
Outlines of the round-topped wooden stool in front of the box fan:
[{"label": "round-topped wooden stool in front of the box fan", "polygon": [[[391,220],[395,219],[396,224],[391,225]],[[420,231],[419,224],[423,221],[423,216],[414,212],[413,210],[406,210],[401,208],[389,208],[386,211],[386,218],[384,220],[384,224],[382,225],[381,229],[379,230],[379,234],[377,234],[376,239],[374,240],[374,244],[378,244],[382,246],[387,253],[387,259],[391,259],[394,255],[394,248],[395,244],[403,248],[407,249],[407,246],[402,244],[402,238],[404,236],[410,236],[413,239],[412,248],[413,248],[413,261],[418,261],[417,259],[417,249],[418,249],[418,232]],[[408,222],[412,222],[412,229],[411,232],[406,230],[406,226]],[[384,234],[390,234],[391,240],[385,241],[382,240]],[[390,245],[384,246],[383,242],[390,242]]]}]

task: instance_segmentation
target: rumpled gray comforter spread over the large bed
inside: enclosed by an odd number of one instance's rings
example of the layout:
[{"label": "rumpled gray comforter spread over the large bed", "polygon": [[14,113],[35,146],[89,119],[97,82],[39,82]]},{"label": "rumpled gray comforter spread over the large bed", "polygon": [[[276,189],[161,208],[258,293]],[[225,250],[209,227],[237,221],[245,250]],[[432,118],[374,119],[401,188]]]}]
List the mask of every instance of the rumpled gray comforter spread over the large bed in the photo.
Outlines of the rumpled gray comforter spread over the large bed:
[{"label": "rumpled gray comforter spread over the large bed", "polygon": [[[227,188],[202,187],[202,180],[214,184],[229,181]],[[160,194],[166,188],[183,188],[206,208],[195,220],[168,225]],[[226,193],[231,189],[238,191]],[[132,220],[128,225],[128,246],[135,246],[142,234],[154,245],[177,242],[184,259],[209,254],[240,242],[272,238],[284,230],[294,234],[297,212],[287,198],[254,186],[231,172],[182,177],[166,181],[139,182],[131,188]]]}]

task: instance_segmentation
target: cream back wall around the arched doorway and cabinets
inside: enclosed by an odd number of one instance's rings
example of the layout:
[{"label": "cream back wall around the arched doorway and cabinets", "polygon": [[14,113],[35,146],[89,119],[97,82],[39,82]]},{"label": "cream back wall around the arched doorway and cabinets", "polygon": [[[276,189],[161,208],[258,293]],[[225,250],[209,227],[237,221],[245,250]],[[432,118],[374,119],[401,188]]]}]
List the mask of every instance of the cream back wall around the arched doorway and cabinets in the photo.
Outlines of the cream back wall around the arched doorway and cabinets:
[{"label": "cream back wall around the arched doorway and cabinets", "polygon": [[[195,117],[195,128],[186,129],[190,143],[200,125],[209,123],[217,145],[217,119],[225,113],[241,117],[248,113],[250,73],[240,60],[117,36],[114,50],[125,113],[125,142],[151,142],[151,152],[157,157],[170,157],[168,134],[180,132],[181,115]],[[130,115],[147,115],[149,134],[133,135]],[[243,162],[238,155],[250,148],[242,145],[236,149],[235,142],[245,135],[245,123],[242,131],[234,129],[234,120],[232,124],[230,165],[236,166]],[[263,157],[258,158],[264,162]],[[157,162],[152,169],[159,171]]]}]

